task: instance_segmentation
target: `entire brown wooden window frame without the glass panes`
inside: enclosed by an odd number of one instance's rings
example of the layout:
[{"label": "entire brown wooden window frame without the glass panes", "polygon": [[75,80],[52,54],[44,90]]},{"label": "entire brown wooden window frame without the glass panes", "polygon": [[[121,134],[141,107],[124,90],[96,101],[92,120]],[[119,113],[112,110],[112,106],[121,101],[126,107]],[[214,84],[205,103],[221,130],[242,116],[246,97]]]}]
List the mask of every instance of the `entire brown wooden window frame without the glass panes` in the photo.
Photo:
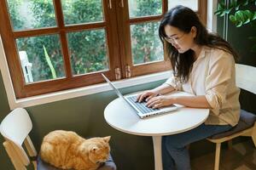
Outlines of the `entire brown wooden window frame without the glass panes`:
[{"label": "entire brown wooden window frame without the glass panes", "polygon": [[[92,29],[104,29],[106,31],[106,42],[108,43],[108,59],[109,70],[102,71],[110,79],[115,80],[115,68],[119,68],[121,78],[126,78],[126,65],[131,65],[131,37],[130,26],[135,23],[144,23],[147,21],[158,21],[167,11],[167,0],[162,0],[163,14],[158,16],[141,17],[129,19],[128,0],[112,1],[112,8],[109,8],[111,0],[102,0],[102,8],[104,14],[104,21],[65,26],[63,14],[61,10],[61,1],[53,0],[55,6],[56,27],[45,27],[40,29],[33,29],[27,31],[13,31],[8,6],[6,0],[0,1],[2,10],[0,11],[0,21],[5,25],[0,26],[0,33],[3,39],[3,48],[9,65],[12,83],[14,85],[16,99],[35,96],[38,94],[49,94],[56,91],[84,87],[100,82],[104,82],[100,72],[93,72],[86,75],[73,76],[71,63],[67,48],[67,33],[73,31],[85,31]],[[124,3],[122,7],[121,3]],[[207,20],[207,2],[199,0],[199,16],[201,20],[206,23]],[[116,20],[113,20],[116,19]],[[127,20],[129,22],[127,22]],[[117,34],[118,32],[118,34]],[[15,43],[16,38],[20,37],[34,37],[57,34],[61,40],[61,51],[63,54],[63,62],[66,77],[55,80],[48,80],[44,82],[34,82],[26,84],[22,73],[19,54]],[[123,36],[120,36],[123,35]],[[113,48],[114,47],[114,48]],[[154,69],[152,69],[154,67]],[[131,66],[131,77],[149,74],[153,72],[166,71],[170,69],[170,62],[166,55],[165,60],[161,62]]]}]

